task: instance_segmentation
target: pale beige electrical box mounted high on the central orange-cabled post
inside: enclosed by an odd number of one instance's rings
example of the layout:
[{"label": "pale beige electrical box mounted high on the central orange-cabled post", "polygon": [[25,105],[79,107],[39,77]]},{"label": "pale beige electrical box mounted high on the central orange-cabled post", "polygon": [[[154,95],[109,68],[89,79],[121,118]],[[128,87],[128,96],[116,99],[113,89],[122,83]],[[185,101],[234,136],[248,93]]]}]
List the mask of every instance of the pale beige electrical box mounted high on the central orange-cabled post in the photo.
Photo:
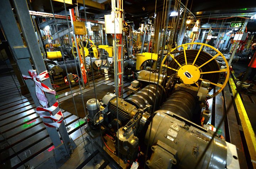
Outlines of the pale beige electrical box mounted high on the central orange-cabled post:
[{"label": "pale beige electrical box mounted high on the central orange-cabled post", "polygon": [[116,18],[114,12],[105,15],[105,28],[107,34],[122,34],[123,21],[122,18]]}]

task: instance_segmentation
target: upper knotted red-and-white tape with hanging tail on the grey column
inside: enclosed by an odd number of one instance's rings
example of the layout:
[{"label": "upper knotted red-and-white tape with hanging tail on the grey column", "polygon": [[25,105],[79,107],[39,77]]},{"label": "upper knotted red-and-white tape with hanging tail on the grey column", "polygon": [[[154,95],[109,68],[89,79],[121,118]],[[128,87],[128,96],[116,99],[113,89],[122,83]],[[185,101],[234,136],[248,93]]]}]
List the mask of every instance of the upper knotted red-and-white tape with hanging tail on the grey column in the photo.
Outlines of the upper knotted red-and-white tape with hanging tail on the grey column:
[{"label": "upper knotted red-and-white tape with hanging tail on the grey column", "polygon": [[[37,75],[36,70],[29,70],[28,74],[30,76],[26,76],[26,75],[22,75],[23,78],[26,79],[32,79],[35,84],[36,84],[36,96],[39,100],[39,103],[43,106],[46,107],[48,104],[48,100],[44,94],[44,92],[46,93],[51,93],[51,94],[56,94],[56,92],[53,89],[50,89],[48,86],[46,86],[45,84],[41,83],[40,81],[46,80],[47,78],[49,78],[49,74],[46,71],[43,71],[41,74]],[[44,92],[43,92],[44,91]]]}]

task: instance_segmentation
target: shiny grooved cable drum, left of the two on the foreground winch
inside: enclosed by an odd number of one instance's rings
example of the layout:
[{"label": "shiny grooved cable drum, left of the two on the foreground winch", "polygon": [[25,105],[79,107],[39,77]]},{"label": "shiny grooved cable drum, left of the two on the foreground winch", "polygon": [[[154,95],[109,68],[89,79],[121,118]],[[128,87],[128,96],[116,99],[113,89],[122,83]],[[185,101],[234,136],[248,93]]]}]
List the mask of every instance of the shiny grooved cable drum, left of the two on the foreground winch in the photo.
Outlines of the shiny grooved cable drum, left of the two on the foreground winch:
[{"label": "shiny grooved cable drum, left of the two on the foreground winch", "polygon": [[[156,89],[158,90],[156,91]],[[162,96],[165,96],[162,88],[156,84],[150,84],[128,97],[125,101],[136,106],[138,109],[145,108],[147,104],[152,105],[153,107],[156,102],[155,108],[157,108],[162,103],[162,100],[164,100],[164,97]]]}]

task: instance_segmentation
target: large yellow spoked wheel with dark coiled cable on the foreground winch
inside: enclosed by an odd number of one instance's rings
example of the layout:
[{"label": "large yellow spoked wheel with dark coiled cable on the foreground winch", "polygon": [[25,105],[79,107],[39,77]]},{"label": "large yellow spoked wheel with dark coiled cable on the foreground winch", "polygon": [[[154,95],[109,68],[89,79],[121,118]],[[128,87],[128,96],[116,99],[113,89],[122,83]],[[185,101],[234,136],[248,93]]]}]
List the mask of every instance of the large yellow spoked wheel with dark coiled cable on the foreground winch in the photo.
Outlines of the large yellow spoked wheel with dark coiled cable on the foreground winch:
[{"label": "large yellow spoked wheel with dark coiled cable on the foreground winch", "polygon": [[[199,50],[189,49],[193,45],[200,46]],[[222,57],[226,68],[219,67],[217,57]],[[220,73],[223,75],[223,84],[218,83]],[[209,80],[210,88],[216,86],[216,92],[210,95],[215,97],[219,94],[229,78],[229,66],[223,54],[213,46],[205,43],[186,43],[172,49],[162,60],[160,73],[171,76],[177,73],[181,82],[200,86],[201,81]]]}]

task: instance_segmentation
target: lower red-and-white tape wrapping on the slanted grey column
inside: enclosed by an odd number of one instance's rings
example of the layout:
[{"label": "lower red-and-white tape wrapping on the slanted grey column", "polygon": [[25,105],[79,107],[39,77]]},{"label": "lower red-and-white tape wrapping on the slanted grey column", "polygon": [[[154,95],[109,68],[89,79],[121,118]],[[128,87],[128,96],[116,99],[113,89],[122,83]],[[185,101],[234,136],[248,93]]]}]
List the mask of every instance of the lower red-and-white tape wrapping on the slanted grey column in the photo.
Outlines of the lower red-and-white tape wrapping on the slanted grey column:
[{"label": "lower red-and-white tape wrapping on the slanted grey column", "polygon": [[[41,118],[50,118],[51,120],[54,121],[53,123],[43,122],[44,125],[46,125],[47,127],[59,127],[60,124],[62,123],[64,116],[61,111],[58,111],[58,113],[56,113],[55,115],[52,115],[52,111],[57,109],[57,107],[58,107],[58,102],[56,101],[51,107],[48,107],[48,108],[37,107],[36,108],[36,112],[39,114],[39,116]],[[51,115],[50,116],[43,115],[42,113],[44,113],[44,112],[49,112]]]}]

